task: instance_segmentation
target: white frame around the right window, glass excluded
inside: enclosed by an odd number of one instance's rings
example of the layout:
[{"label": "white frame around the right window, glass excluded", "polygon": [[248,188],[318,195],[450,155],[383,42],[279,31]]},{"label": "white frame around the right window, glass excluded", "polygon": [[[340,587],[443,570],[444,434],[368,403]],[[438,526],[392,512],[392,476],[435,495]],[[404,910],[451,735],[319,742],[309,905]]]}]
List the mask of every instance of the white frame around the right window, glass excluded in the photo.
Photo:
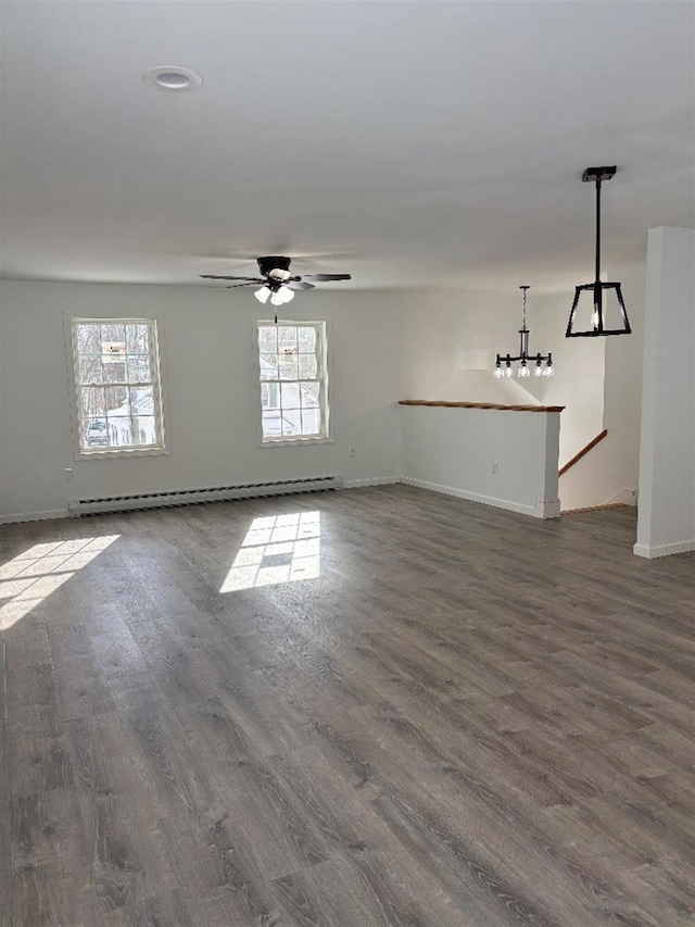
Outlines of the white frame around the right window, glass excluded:
[{"label": "white frame around the right window, glass excluded", "polygon": [[[258,345],[258,333],[262,326],[280,326],[285,328],[312,327],[316,331],[316,380],[320,384],[319,410],[321,418],[321,433],[319,435],[283,436],[277,438],[264,438],[263,436],[263,401],[262,388],[264,383],[276,383],[276,380],[261,380],[261,348]],[[327,320],[303,320],[282,318],[277,323],[273,320],[257,318],[253,325],[253,374],[254,397],[256,409],[256,444],[258,448],[302,448],[311,444],[333,443],[333,416],[330,409],[330,380],[331,380],[331,337],[330,323]],[[314,380],[314,381],[316,381]],[[301,380],[280,380],[278,383],[301,383]]]}]

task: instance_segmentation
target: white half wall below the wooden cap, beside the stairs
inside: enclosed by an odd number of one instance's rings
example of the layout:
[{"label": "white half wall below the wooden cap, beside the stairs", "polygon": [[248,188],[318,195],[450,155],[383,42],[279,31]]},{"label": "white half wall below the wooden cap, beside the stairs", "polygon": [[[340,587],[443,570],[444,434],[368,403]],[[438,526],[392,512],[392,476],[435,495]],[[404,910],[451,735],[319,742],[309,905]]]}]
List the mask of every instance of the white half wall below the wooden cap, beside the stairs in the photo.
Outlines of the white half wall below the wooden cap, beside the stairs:
[{"label": "white half wall below the wooden cap, beside the stairs", "polygon": [[402,405],[401,423],[404,483],[536,518],[559,515],[559,413]]}]

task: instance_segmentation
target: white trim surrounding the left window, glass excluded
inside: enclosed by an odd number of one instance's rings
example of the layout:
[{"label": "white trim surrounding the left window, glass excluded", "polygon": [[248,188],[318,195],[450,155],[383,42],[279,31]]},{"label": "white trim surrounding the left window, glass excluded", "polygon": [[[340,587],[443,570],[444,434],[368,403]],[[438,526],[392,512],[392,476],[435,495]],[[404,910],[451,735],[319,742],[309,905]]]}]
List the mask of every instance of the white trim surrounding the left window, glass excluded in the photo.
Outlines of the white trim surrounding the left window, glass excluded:
[{"label": "white trim surrounding the left window, glass excluded", "polygon": [[[154,402],[159,409],[159,424],[161,426],[162,440],[152,448],[124,448],[123,450],[86,451],[79,441],[81,419],[77,397],[76,361],[77,351],[75,343],[75,324],[80,322],[92,322],[104,325],[113,322],[124,325],[152,324],[154,337],[153,363],[159,374],[159,389],[154,390]],[[115,315],[68,315],[63,314],[63,326],[65,333],[65,356],[67,362],[67,384],[70,394],[71,433],[73,441],[73,459],[75,461],[103,461],[103,460],[127,460],[129,458],[150,458],[169,454],[169,428],[168,428],[168,401],[166,381],[164,377],[164,323],[159,315],[139,317],[115,316]]]}]

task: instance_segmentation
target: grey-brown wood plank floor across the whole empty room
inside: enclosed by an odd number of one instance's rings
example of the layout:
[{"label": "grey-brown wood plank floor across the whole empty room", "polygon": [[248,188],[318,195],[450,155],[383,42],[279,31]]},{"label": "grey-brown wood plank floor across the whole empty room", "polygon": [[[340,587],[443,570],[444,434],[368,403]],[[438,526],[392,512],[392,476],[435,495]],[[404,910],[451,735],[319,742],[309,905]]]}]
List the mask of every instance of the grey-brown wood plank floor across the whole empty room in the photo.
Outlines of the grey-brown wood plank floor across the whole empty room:
[{"label": "grey-brown wood plank floor across the whole empty room", "polygon": [[694,560],[634,530],[406,487],[5,528],[2,924],[694,923]]}]

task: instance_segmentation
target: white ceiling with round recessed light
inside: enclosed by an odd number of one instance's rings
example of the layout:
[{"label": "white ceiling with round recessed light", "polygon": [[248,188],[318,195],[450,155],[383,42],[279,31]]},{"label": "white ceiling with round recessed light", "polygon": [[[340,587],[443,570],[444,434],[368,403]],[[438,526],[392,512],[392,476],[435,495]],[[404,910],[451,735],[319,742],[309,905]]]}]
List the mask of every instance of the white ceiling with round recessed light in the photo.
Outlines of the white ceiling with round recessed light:
[{"label": "white ceiling with round recessed light", "polygon": [[[3,3],[3,273],[553,289],[693,223],[693,3]],[[204,78],[166,93],[142,73]],[[324,256],[321,256],[324,255]],[[334,256],[326,256],[334,255]],[[205,286],[208,284],[202,284]]]}]

